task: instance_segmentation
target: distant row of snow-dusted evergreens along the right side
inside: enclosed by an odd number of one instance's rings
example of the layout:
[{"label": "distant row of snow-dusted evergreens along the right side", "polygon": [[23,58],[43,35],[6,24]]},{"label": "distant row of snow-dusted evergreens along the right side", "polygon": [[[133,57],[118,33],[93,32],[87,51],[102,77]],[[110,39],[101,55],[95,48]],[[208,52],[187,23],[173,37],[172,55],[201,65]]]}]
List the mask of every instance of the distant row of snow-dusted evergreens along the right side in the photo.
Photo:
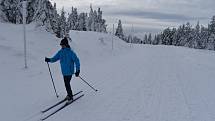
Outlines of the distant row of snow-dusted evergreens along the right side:
[{"label": "distant row of snow-dusted evergreens along the right side", "polygon": [[[118,24],[118,28],[121,28],[120,24]],[[215,16],[212,17],[207,27],[200,25],[199,22],[193,27],[188,22],[178,28],[166,28],[154,37],[152,37],[152,34],[146,34],[144,38],[131,35],[126,36],[123,35],[123,32],[120,34],[117,33],[116,35],[128,43],[174,45],[215,50]]]}]

